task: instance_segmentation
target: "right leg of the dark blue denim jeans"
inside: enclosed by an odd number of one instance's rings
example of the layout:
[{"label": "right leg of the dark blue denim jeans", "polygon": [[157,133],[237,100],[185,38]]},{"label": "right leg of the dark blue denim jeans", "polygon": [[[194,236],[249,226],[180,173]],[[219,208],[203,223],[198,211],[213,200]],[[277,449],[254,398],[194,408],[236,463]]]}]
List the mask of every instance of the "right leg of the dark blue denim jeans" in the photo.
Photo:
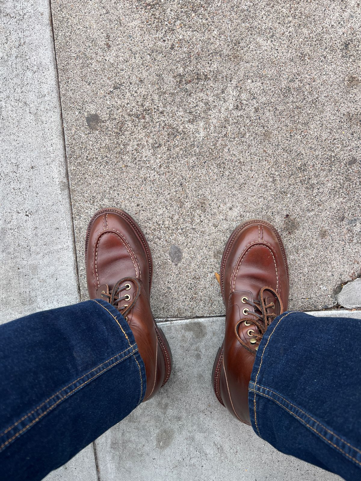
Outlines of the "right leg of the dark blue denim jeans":
[{"label": "right leg of the dark blue denim jeans", "polygon": [[259,345],[252,427],[279,451],[361,479],[361,321],[291,312]]}]

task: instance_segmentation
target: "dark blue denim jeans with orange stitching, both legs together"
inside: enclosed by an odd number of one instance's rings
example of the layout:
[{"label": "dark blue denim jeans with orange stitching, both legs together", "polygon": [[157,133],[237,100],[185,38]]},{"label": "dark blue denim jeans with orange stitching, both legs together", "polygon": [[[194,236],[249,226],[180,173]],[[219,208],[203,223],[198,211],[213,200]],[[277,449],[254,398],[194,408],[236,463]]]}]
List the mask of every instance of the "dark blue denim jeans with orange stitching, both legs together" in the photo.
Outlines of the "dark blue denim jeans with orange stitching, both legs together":
[{"label": "dark blue denim jeans with orange stitching, both legs together", "polygon": [[[359,320],[277,317],[249,385],[256,433],[286,454],[360,480],[360,346]],[[125,418],[145,388],[128,323],[104,301],[3,324],[0,481],[41,480]]]}]

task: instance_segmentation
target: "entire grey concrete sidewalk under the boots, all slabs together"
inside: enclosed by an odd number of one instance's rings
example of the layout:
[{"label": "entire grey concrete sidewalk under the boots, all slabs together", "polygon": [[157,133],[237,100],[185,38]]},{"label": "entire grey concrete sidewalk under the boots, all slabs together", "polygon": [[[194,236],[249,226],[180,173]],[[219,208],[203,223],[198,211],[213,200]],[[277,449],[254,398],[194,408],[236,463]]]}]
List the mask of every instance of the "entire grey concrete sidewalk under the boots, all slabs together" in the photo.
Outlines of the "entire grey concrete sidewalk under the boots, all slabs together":
[{"label": "entire grey concrete sidewalk under the boots, all slabs together", "polygon": [[47,1],[3,11],[0,322],[86,297],[103,205],[146,232],[156,316],[185,317],[162,323],[165,389],[47,479],[338,479],[232,421],[210,385],[224,318],[190,317],[223,314],[213,272],[246,217],[280,229],[292,307],[360,274],[356,2],[53,1],[56,57]]}]

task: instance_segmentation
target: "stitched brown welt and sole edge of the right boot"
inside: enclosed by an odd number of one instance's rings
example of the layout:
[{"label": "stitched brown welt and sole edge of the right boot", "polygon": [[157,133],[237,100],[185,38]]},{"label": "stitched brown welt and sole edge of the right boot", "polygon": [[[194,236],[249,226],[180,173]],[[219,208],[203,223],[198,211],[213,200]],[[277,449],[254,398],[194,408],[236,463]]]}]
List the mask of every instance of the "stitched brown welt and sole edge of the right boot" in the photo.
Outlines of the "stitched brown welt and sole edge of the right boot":
[{"label": "stitched brown welt and sole edge of the right boot", "polygon": [[[228,254],[229,254],[231,248],[232,248],[233,242],[234,242],[234,240],[235,240],[239,231],[241,231],[242,229],[244,229],[245,227],[247,227],[249,225],[257,224],[257,223],[263,224],[263,225],[266,225],[267,227],[269,227],[272,230],[272,232],[275,234],[275,236],[277,237],[277,240],[278,240],[278,242],[281,246],[281,250],[282,250],[282,253],[283,253],[284,262],[285,262],[286,271],[287,271],[287,279],[288,279],[288,283],[289,283],[287,257],[286,257],[286,253],[285,253],[285,250],[284,250],[284,244],[282,242],[280,234],[277,232],[277,230],[269,222],[267,222],[265,220],[261,220],[261,219],[250,219],[250,220],[247,220],[247,221],[243,222],[242,224],[240,224],[239,226],[237,226],[233,230],[232,234],[230,235],[230,237],[229,237],[229,239],[226,243],[224,251],[223,251],[222,259],[221,259],[221,262],[220,262],[220,272],[219,272],[219,275],[220,275],[220,291],[222,293],[223,301],[224,301],[224,291],[223,291],[224,266],[226,264],[227,257],[228,257]],[[222,346],[223,346],[223,344],[222,344]],[[217,352],[217,355],[216,355],[216,359],[214,361],[213,370],[212,370],[212,384],[213,384],[214,393],[216,394],[217,399],[219,400],[220,404],[224,406],[224,403],[222,401],[222,398],[221,398],[221,395],[220,395],[220,392],[219,392],[219,378],[220,378],[220,372],[221,372],[222,363],[223,363],[223,347],[222,346],[219,348],[219,350]]]}]

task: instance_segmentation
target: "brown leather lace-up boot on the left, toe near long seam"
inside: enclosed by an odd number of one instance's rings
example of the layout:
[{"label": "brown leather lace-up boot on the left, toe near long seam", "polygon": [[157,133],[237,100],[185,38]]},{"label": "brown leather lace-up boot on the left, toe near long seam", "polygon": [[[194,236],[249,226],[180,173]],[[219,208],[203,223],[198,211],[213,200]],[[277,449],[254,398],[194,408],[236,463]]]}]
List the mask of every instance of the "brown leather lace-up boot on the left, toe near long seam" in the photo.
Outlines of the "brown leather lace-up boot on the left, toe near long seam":
[{"label": "brown leather lace-up boot on the left, toe near long seam", "polygon": [[88,226],[85,260],[90,299],[113,304],[133,332],[145,365],[146,401],[168,381],[172,367],[167,339],[149,303],[153,263],[148,243],[129,214],[101,209]]}]

